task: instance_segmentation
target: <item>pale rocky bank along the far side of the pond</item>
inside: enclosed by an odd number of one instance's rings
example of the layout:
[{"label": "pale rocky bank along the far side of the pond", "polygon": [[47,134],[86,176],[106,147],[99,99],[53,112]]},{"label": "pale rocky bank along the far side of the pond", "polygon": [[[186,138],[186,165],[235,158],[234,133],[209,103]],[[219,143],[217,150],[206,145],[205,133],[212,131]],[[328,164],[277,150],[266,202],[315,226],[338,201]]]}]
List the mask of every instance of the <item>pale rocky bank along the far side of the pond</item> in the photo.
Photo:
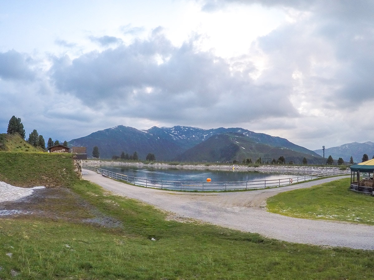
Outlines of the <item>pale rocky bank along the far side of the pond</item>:
[{"label": "pale rocky bank along the far side of the pond", "polygon": [[337,166],[313,166],[313,165],[260,165],[260,166],[247,166],[247,165],[220,165],[220,164],[166,164],[159,162],[150,162],[145,164],[143,162],[125,162],[125,161],[100,161],[100,160],[87,160],[83,161],[83,165],[89,166],[136,166],[136,167],[151,167],[151,168],[178,168],[178,169],[208,169],[217,171],[235,170],[235,171],[257,171],[257,172],[270,172],[270,173],[287,173],[287,174],[315,174],[326,173],[332,171],[339,171]]}]

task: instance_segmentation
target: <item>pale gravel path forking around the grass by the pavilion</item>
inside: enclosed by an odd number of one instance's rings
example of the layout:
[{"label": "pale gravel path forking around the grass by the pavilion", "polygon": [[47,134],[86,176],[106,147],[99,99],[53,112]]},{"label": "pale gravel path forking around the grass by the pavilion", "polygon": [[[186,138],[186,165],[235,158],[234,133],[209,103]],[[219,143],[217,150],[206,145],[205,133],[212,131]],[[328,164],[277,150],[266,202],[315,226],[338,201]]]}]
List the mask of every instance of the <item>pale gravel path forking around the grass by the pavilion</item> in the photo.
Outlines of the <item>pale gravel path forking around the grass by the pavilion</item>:
[{"label": "pale gravel path forking around the grass by the pavilion", "polygon": [[105,178],[85,170],[84,179],[118,195],[172,212],[176,217],[192,218],[287,242],[355,249],[374,249],[374,226],[344,222],[305,220],[269,213],[264,201],[280,192],[319,185],[342,177],[326,178],[295,186],[251,192],[183,193],[145,189]]}]

